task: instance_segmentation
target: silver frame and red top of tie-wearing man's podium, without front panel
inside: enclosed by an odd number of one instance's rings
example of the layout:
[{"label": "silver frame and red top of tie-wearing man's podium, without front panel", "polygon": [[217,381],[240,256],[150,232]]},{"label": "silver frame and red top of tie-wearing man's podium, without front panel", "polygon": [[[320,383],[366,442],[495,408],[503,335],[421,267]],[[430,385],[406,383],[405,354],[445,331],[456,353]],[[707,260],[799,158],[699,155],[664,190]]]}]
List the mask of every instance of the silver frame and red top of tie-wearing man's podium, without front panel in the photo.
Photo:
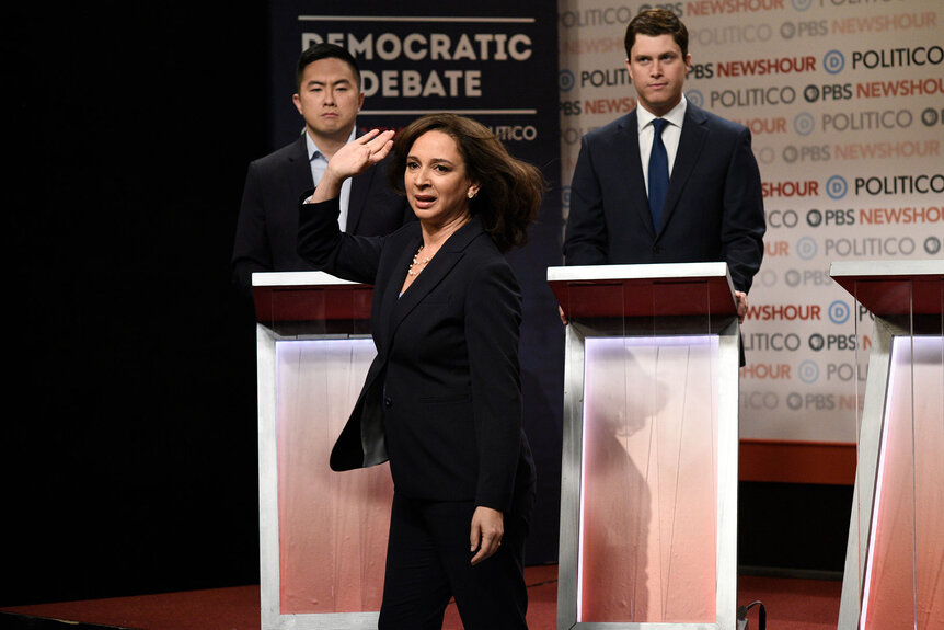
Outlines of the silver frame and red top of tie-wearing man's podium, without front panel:
[{"label": "silver frame and red top of tie-wearing man's podium, without front panel", "polygon": [[[737,623],[737,482],[738,482],[738,369],[739,327],[734,287],[726,263],[678,263],[652,265],[599,265],[551,267],[548,282],[568,318],[564,370],[564,435],[561,486],[561,538],[559,555],[557,630],[735,630]],[[586,311],[567,312],[572,288],[589,296],[594,285],[622,284],[625,290],[642,290],[645,297],[675,291],[666,312],[607,312],[611,306],[586,300]],[[578,288],[577,288],[578,287]],[[689,305],[679,289],[700,287],[709,297],[707,313],[687,312]],[[645,299],[637,300],[644,303]],[[625,309],[629,300],[618,305]],[[635,302],[634,302],[635,303]],[[578,311],[580,309],[577,309]],[[582,502],[582,453],[584,439],[585,342],[592,336],[614,336],[597,328],[596,318],[658,318],[669,322],[671,334],[693,332],[688,316],[709,316],[717,350],[717,478],[715,622],[589,622],[577,620],[578,554]],[[666,316],[663,318],[663,316]],[[633,335],[632,331],[624,331]],[[704,333],[704,329],[694,332]],[[651,333],[649,333],[651,334]],[[619,336],[619,333],[617,334]]]}]

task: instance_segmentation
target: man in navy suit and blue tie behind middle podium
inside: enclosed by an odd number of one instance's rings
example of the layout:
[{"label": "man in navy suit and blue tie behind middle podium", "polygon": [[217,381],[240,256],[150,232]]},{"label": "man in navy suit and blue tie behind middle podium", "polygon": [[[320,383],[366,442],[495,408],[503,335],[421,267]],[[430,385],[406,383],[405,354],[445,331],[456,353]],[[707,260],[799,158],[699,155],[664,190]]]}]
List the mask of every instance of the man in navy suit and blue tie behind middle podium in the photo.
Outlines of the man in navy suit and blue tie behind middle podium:
[{"label": "man in navy suit and blue tie behind middle podium", "polygon": [[742,321],[765,230],[750,131],[682,95],[691,55],[674,13],[641,12],[625,47],[638,105],[583,138],[566,264],[726,262]]}]

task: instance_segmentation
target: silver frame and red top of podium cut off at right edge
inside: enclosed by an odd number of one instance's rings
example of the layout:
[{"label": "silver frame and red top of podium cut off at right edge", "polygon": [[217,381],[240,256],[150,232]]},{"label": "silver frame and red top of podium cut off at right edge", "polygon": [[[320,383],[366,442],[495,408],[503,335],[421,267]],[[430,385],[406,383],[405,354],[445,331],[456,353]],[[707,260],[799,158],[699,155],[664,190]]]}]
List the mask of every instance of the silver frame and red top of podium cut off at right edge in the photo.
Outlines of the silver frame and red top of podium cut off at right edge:
[{"label": "silver frame and red top of podium cut off at right edge", "polygon": [[[870,546],[860,545],[860,540],[863,535],[868,537],[872,528],[879,482],[883,424],[894,367],[893,346],[896,337],[942,334],[940,319],[936,329],[933,324],[929,329],[914,316],[936,308],[940,318],[944,301],[944,261],[833,262],[829,275],[875,318],[857,436],[859,460],[838,625],[840,630],[854,630],[860,627],[862,585],[866,580],[870,550]],[[914,290],[912,283],[916,282],[923,288]],[[908,300],[902,301],[902,297]],[[859,509],[854,508],[856,505]]]}]

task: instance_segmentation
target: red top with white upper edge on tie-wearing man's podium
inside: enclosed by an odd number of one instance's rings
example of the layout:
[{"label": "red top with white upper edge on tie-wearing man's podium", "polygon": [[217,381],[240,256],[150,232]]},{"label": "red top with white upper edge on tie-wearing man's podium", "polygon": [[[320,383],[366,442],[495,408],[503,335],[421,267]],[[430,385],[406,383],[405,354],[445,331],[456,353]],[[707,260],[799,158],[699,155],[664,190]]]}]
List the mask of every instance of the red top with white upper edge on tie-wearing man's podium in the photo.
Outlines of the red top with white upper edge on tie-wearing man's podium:
[{"label": "red top with white upper edge on tie-wearing man's podium", "polygon": [[737,314],[726,263],[549,267],[548,283],[568,318]]}]

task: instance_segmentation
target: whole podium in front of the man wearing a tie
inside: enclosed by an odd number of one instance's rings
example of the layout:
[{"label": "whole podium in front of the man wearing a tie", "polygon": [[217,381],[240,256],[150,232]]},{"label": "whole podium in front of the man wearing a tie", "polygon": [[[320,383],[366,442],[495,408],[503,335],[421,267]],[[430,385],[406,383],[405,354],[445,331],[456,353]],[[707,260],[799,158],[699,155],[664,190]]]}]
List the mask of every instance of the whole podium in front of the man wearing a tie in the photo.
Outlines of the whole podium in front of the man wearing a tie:
[{"label": "whole podium in front of the man wearing a tie", "polygon": [[568,320],[557,630],[735,630],[727,265],[551,267],[548,282]]}]

